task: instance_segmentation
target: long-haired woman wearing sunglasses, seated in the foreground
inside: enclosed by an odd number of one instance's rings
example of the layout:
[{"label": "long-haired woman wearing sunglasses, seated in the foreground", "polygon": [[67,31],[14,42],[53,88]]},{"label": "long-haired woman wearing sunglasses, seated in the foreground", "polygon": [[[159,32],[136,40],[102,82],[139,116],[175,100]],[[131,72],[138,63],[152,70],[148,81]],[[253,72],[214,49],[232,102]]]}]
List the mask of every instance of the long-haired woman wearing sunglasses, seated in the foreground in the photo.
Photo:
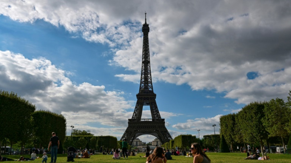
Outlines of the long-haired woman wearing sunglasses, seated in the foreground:
[{"label": "long-haired woman wearing sunglasses, seated in the foreground", "polygon": [[190,151],[194,157],[193,163],[210,163],[211,162],[211,160],[207,157],[207,155],[202,151],[202,148],[198,143],[192,143]]}]

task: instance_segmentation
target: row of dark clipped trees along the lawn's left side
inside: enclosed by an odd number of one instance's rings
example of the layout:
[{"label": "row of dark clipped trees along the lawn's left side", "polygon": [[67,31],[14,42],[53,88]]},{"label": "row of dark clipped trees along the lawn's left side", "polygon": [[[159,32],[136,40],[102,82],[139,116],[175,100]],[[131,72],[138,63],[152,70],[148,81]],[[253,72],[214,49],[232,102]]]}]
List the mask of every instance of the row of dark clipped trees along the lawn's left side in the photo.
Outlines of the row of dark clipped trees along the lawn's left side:
[{"label": "row of dark clipped trees along the lawn's left side", "polygon": [[50,111],[36,111],[35,105],[13,92],[0,90],[0,110],[0,146],[12,148],[17,144],[21,150],[24,146],[47,147],[52,132],[56,132],[61,144],[65,139],[65,117]]}]

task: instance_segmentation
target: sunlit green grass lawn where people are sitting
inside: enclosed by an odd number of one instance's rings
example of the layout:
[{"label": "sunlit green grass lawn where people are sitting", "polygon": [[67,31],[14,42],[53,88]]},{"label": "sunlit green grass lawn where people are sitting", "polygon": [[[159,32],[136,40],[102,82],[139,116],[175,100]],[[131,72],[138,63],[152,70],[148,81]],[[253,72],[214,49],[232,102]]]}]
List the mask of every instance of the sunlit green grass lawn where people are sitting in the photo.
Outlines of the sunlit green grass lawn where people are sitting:
[{"label": "sunlit green grass lawn where people are sitting", "polygon": [[[265,160],[244,160],[244,158],[247,156],[245,153],[206,153],[207,156],[211,159],[211,163],[250,163],[250,162],[265,162]],[[105,162],[112,162],[112,163],[145,163],[146,158],[145,157],[139,157],[144,156],[145,154],[138,154],[137,156],[129,156],[128,159],[119,159],[119,160],[113,160],[113,155],[102,155],[102,154],[96,154],[92,155],[91,158],[80,158],[80,159],[74,159],[77,163],[105,163]],[[291,163],[291,154],[268,154],[270,156],[271,160],[266,160],[268,163],[285,163],[289,162]],[[20,155],[3,155],[4,157],[12,158],[12,159],[18,159]],[[29,157],[30,155],[23,155],[24,157]],[[38,155],[42,157],[42,155]],[[51,160],[51,155],[47,155],[49,158],[47,160],[47,163]],[[168,160],[167,163],[192,163],[193,157],[185,157],[185,156],[172,156],[172,160]],[[41,158],[36,159],[35,161],[29,161],[30,163],[41,163]],[[58,154],[57,163],[66,163],[67,161],[67,155],[66,154]]]}]

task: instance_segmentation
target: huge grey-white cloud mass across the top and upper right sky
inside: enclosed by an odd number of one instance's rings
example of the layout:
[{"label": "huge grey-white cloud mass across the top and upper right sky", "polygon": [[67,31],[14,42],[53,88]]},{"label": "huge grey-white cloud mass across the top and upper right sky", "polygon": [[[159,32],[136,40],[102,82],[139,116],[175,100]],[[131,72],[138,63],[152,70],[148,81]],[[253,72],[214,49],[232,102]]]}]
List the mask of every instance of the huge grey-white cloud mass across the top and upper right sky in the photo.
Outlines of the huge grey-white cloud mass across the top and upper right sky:
[{"label": "huge grey-white cloud mass across the top and upper right sky", "polygon": [[[153,81],[216,90],[246,104],[288,93],[290,7],[287,1],[2,1],[0,14],[20,22],[42,19],[108,44],[115,52],[110,64],[135,72],[115,76],[138,83],[147,10]],[[248,79],[249,72],[260,75]]]}]

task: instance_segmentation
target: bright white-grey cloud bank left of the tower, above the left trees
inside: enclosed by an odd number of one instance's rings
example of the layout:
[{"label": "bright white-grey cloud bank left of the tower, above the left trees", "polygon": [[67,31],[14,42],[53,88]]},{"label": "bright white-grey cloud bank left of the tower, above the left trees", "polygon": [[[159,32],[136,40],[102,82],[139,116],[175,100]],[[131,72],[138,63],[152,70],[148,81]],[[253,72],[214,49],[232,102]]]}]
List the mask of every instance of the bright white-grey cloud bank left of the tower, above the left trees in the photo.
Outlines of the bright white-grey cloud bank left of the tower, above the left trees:
[{"label": "bright white-grey cloud bank left of the tower, above the left trees", "polygon": [[126,101],[122,91],[106,91],[90,83],[76,85],[45,58],[29,60],[22,54],[0,51],[0,88],[17,92],[37,109],[62,113],[68,124],[99,122],[125,127],[126,118],[132,115],[127,109],[132,109],[133,101]]}]

